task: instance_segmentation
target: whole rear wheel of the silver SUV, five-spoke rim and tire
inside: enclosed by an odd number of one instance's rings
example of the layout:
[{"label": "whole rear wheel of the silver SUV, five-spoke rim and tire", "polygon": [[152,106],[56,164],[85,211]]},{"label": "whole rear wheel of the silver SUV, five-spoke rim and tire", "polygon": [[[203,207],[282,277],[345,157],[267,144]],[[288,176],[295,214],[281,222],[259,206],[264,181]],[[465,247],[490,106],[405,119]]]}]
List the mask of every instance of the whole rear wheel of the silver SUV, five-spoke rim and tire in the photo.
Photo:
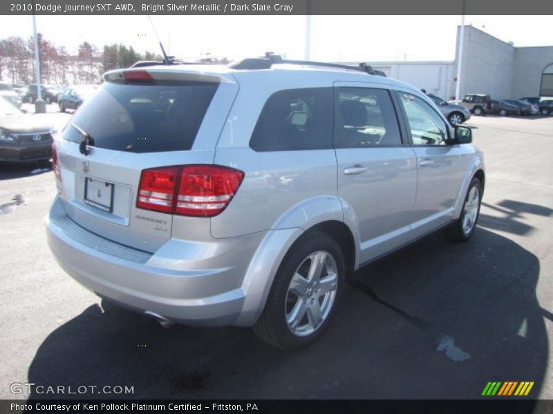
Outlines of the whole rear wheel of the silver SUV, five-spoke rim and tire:
[{"label": "whole rear wheel of the silver SUV, five-spoke rim and tire", "polygon": [[314,342],[335,312],[344,272],[344,256],[332,237],[321,232],[301,237],[274,277],[256,335],[282,349]]}]

